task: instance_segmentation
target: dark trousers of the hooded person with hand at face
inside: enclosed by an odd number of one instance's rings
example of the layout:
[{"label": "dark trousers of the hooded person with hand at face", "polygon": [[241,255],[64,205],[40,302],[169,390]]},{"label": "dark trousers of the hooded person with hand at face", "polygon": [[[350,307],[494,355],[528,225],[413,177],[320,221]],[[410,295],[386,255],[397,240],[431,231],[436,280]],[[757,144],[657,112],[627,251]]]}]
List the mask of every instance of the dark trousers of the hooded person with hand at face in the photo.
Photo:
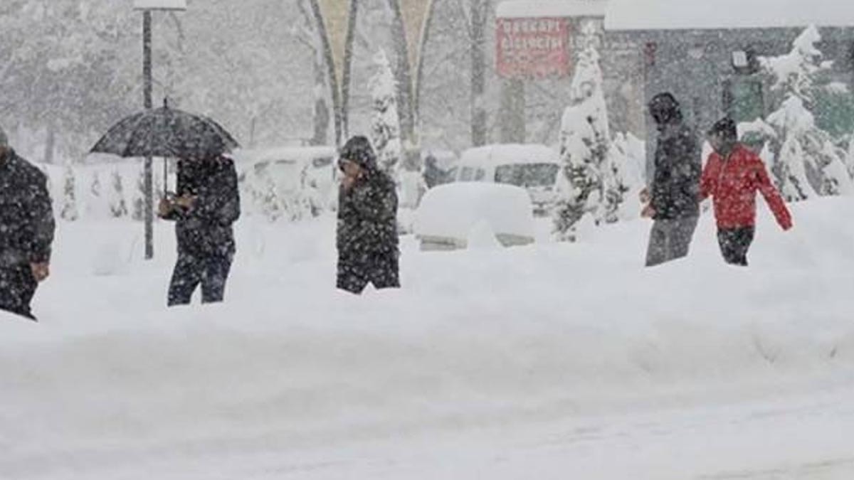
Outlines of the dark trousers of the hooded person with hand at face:
[{"label": "dark trousers of the hooded person with hand at face", "polygon": [[364,259],[338,258],[338,289],[360,295],[368,284],[373,284],[377,290],[401,288],[400,262],[396,252]]}]

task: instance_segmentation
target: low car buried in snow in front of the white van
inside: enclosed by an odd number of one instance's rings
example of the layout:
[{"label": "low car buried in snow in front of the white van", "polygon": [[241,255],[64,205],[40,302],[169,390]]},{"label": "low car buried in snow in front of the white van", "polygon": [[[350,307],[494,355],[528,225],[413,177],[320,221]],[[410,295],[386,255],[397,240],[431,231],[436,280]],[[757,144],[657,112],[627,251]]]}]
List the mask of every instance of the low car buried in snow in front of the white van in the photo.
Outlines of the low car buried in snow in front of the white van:
[{"label": "low car buried in snow in front of the white van", "polygon": [[421,200],[414,231],[422,250],[467,249],[483,243],[511,247],[535,239],[528,192],[508,184],[439,185]]}]

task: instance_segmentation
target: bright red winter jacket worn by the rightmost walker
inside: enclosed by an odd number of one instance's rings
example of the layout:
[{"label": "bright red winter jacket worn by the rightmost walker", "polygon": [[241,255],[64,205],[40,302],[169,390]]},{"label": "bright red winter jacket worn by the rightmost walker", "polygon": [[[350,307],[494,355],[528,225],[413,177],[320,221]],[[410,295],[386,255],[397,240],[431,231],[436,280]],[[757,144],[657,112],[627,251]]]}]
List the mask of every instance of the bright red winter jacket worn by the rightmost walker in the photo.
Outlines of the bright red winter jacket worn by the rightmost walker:
[{"label": "bright red winter jacket worn by the rightmost walker", "polygon": [[718,228],[756,225],[757,190],[765,197],[783,230],[792,228],[792,214],[780,192],[771,184],[759,155],[737,144],[726,161],[717,153],[709,156],[700,181],[700,199],[712,197]]}]

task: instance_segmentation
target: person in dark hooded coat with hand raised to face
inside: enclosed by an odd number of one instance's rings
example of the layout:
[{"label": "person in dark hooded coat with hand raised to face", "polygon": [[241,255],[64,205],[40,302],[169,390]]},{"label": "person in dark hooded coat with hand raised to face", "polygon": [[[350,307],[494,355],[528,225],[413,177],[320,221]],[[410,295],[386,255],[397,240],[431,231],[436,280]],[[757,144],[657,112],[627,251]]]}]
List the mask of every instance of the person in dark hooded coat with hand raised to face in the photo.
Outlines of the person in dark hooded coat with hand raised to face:
[{"label": "person in dark hooded coat with hand raised to face", "polygon": [[351,138],[341,151],[344,173],[338,196],[337,287],[360,294],[401,286],[394,180],[377,166],[365,137]]}]

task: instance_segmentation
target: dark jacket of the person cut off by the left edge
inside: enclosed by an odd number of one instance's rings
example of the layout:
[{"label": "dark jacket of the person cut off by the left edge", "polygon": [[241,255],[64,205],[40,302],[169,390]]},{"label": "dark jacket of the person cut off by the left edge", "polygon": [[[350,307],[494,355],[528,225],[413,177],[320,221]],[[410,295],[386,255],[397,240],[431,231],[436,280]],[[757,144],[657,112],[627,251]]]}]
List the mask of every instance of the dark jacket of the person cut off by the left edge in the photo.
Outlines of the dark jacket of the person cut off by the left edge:
[{"label": "dark jacket of the person cut off by the left edge", "polygon": [[0,267],[49,262],[55,228],[47,177],[9,149],[0,159]]}]

